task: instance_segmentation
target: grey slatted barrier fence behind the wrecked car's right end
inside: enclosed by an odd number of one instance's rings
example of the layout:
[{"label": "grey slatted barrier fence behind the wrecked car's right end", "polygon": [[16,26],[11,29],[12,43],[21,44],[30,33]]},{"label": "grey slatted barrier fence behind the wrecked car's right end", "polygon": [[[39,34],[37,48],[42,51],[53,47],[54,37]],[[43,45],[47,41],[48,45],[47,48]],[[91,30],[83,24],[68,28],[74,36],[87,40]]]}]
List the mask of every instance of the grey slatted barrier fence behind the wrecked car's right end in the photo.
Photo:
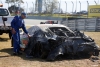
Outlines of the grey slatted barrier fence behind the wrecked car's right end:
[{"label": "grey slatted barrier fence behind the wrecked car's right end", "polygon": [[100,31],[99,18],[66,20],[61,22],[61,24],[68,26],[72,30]]}]

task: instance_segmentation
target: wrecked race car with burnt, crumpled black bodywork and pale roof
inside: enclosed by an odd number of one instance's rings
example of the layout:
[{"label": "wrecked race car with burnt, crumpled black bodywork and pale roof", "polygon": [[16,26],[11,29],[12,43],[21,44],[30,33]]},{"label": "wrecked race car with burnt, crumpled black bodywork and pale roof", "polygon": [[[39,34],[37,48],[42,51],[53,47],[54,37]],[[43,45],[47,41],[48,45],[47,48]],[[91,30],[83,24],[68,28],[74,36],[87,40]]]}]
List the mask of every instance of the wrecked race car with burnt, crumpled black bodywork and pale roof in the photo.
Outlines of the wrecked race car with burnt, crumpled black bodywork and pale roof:
[{"label": "wrecked race car with burnt, crumpled black bodywork and pale roof", "polygon": [[27,55],[47,60],[55,60],[60,55],[66,57],[99,55],[100,48],[91,37],[78,30],[72,31],[64,25],[40,24],[30,27],[28,32],[31,37],[24,49]]}]

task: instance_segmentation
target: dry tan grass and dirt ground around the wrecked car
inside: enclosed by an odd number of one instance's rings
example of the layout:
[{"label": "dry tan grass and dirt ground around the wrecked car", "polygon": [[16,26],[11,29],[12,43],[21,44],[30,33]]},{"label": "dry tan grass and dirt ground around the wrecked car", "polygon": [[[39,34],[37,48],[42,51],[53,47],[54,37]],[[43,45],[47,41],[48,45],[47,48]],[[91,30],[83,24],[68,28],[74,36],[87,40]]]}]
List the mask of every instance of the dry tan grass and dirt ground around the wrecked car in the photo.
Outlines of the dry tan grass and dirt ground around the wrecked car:
[{"label": "dry tan grass and dirt ground around the wrecked car", "polygon": [[[96,43],[100,45],[100,32],[85,33],[91,36]],[[8,35],[0,35],[0,67],[100,67],[100,60],[95,58],[65,58],[53,62],[47,62],[44,59],[26,58],[24,52],[20,56],[13,56],[12,52],[11,40],[8,38]]]}]

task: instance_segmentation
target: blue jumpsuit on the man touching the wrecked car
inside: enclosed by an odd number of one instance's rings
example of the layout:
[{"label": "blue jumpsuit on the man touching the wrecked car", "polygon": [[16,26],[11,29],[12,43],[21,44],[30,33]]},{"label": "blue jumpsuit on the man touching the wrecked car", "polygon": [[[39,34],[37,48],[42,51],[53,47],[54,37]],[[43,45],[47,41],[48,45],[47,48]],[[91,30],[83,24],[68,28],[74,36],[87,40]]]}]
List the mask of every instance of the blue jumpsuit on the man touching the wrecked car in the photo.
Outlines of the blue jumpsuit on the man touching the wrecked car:
[{"label": "blue jumpsuit on the man touching the wrecked car", "polygon": [[11,22],[11,27],[15,29],[16,33],[12,34],[13,37],[13,46],[14,46],[14,52],[19,53],[20,50],[20,32],[19,29],[22,28],[23,31],[28,34],[26,27],[24,25],[24,20],[21,18],[21,16],[15,16],[14,19]]}]

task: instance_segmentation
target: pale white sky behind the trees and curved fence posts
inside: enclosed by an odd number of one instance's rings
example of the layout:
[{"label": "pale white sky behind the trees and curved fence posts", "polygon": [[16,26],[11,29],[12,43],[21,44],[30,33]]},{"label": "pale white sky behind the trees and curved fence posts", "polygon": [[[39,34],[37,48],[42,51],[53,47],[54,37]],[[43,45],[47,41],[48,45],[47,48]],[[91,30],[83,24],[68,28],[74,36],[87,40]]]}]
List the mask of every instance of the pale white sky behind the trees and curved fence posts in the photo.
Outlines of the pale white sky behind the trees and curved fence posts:
[{"label": "pale white sky behind the trees and curved fence posts", "polygon": [[[3,3],[3,6],[5,8],[8,7],[8,4],[5,3],[5,0],[1,0],[2,3]],[[23,0],[24,1],[24,4],[21,4],[21,7],[23,7],[24,9],[27,9],[27,4],[26,2],[28,3],[28,12],[30,10],[30,8],[33,8],[33,3],[35,3],[35,0]],[[95,2],[94,0],[58,0],[59,3],[60,3],[60,8],[63,10],[63,11],[66,11],[66,4],[65,4],[65,1],[67,2],[67,12],[72,12],[72,2],[74,3],[74,9],[73,11],[75,11],[76,9],[76,1],[77,1],[77,10],[76,11],[80,11],[80,3],[79,1],[81,2],[81,10],[87,10],[87,1],[89,2],[89,5],[95,5]],[[72,1],[72,2],[71,2]],[[95,0],[98,4],[100,4],[99,0]]]}]

